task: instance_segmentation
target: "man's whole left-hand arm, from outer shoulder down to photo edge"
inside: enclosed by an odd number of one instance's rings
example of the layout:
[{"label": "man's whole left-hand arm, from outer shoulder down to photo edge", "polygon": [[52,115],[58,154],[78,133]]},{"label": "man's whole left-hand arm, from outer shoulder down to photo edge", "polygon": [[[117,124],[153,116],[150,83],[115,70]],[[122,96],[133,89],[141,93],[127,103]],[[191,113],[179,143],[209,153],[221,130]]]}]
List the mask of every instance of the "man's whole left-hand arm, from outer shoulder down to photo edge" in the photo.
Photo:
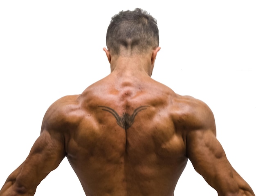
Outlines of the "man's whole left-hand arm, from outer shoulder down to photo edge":
[{"label": "man's whole left-hand arm, from outer shoulder down to photo edge", "polygon": [[60,123],[63,117],[54,103],[46,112],[40,136],[27,159],[7,178],[0,196],[34,195],[38,184],[56,169],[65,157],[65,139]]}]

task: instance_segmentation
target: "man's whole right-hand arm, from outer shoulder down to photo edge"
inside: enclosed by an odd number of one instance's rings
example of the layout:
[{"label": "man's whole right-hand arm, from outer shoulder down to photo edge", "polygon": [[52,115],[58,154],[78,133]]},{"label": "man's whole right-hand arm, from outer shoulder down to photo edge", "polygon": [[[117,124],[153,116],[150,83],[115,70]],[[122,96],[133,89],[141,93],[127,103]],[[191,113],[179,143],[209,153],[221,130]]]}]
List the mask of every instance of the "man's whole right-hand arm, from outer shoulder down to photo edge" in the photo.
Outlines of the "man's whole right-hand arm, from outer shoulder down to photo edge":
[{"label": "man's whole right-hand arm, from outer shoulder down to photo edge", "polygon": [[193,126],[186,133],[186,148],[195,170],[217,190],[219,196],[253,196],[252,189],[231,166],[216,139],[215,121],[209,107],[198,101],[191,115]]}]

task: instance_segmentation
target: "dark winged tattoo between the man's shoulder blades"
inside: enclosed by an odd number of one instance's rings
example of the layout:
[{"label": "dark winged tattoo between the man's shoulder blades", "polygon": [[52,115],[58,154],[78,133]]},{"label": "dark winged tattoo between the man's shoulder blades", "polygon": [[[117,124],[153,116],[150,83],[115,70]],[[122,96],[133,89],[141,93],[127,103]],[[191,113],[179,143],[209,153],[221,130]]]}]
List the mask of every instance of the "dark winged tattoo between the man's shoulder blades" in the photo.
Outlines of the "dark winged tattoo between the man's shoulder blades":
[{"label": "dark winged tattoo between the man's shoulder blades", "polygon": [[117,112],[115,110],[113,110],[112,108],[106,107],[106,106],[98,106],[100,108],[102,108],[102,110],[104,111],[108,111],[110,112],[115,119],[117,120],[117,124],[123,128],[124,130],[127,130],[128,128],[130,128],[130,126],[132,126],[132,124],[134,123],[134,119],[136,117],[136,115],[141,111],[141,110],[146,110],[147,107],[149,106],[140,106],[139,108],[136,108],[134,110],[134,112],[132,113],[132,115],[129,115],[128,113],[123,113],[123,115],[120,117]]}]

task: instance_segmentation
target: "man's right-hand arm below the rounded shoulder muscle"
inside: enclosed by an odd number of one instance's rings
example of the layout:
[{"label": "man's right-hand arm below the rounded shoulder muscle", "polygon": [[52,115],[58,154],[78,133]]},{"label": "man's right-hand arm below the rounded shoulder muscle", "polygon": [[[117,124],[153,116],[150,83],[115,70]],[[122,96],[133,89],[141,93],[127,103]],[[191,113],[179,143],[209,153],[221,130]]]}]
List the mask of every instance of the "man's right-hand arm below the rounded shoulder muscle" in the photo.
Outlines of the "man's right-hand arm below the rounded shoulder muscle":
[{"label": "man's right-hand arm below the rounded shoulder muscle", "polygon": [[225,151],[211,130],[193,131],[187,135],[187,156],[195,170],[201,174],[218,195],[242,195],[252,189],[234,170],[227,160]]}]

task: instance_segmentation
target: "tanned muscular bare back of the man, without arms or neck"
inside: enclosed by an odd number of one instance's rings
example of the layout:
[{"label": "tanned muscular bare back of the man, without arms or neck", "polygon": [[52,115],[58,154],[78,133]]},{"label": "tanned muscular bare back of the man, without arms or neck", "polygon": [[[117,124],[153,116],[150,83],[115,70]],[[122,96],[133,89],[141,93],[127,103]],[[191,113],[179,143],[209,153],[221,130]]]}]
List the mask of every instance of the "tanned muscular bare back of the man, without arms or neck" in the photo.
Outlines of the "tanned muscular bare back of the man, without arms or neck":
[{"label": "tanned muscular bare back of the man, without arms or neck", "polygon": [[187,158],[171,89],[109,76],[69,99],[65,150],[87,196],[173,194]]}]

